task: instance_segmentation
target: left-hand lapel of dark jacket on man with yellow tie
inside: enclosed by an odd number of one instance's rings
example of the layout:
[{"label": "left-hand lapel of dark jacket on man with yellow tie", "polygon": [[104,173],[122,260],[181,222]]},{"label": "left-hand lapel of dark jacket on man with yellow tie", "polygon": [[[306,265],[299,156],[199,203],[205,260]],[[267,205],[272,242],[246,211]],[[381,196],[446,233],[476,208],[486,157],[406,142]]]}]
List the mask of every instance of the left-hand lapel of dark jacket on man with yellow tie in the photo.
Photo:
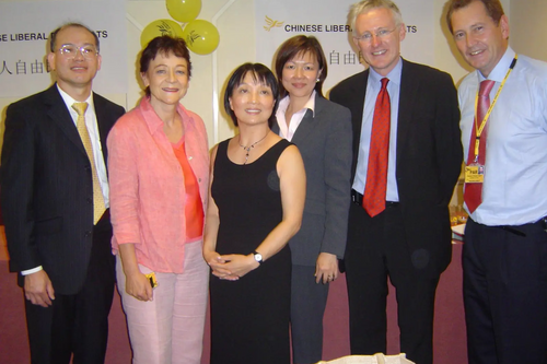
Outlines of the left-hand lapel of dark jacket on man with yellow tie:
[{"label": "left-hand lapel of dark jacket on man with yellow tie", "polygon": [[67,109],[65,101],[57,90],[57,84],[54,84],[49,87],[49,90],[47,90],[46,104],[49,106],[49,118],[62,130],[62,132],[65,132],[67,138],[80,152],[88,155],[85,153],[85,149],[83,148],[82,140],[80,139],[80,134],[78,133],[78,129],[74,126],[74,121]]}]

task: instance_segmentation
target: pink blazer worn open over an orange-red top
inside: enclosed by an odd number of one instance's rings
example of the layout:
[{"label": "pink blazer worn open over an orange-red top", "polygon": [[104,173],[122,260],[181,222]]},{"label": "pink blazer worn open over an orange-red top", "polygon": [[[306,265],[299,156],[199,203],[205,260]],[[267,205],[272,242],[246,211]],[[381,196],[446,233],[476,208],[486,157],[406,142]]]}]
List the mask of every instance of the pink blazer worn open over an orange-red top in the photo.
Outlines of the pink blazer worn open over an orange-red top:
[{"label": "pink blazer worn open over an orange-red top", "polygon": [[[185,151],[207,211],[209,148],[201,118],[179,105]],[[182,273],[186,238],[184,174],[163,132],[163,121],[143,97],[118,119],[107,139],[113,251],[132,243],[139,263]]]}]

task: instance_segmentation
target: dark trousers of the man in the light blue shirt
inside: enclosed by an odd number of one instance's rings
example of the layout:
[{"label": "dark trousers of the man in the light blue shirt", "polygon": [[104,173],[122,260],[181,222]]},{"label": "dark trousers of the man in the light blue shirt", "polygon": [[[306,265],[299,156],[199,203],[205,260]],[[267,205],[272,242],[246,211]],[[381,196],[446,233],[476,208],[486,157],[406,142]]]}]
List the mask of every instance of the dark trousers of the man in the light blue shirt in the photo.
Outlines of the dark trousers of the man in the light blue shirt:
[{"label": "dark trousers of the man in the light blue shirt", "polygon": [[547,363],[547,233],[469,219],[462,259],[469,364]]}]

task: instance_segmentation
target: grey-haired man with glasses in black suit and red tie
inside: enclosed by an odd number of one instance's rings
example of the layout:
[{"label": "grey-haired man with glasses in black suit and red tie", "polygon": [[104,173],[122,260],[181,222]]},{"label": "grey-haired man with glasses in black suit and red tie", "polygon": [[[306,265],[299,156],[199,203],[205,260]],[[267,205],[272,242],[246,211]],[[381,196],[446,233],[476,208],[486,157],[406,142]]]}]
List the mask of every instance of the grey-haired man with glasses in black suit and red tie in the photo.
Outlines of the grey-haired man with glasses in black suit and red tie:
[{"label": "grey-haired man with glasses in black suit and red tie", "polygon": [[462,165],[456,90],[447,73],[400,57],[406,27],[392,1],[361,1],[348,19],[370,66],[330,92],[353,124],[345,255],[351,353],[385,353],[389,277],[400,351],[432,364],[435,290],[452,254],[447,204]]}]

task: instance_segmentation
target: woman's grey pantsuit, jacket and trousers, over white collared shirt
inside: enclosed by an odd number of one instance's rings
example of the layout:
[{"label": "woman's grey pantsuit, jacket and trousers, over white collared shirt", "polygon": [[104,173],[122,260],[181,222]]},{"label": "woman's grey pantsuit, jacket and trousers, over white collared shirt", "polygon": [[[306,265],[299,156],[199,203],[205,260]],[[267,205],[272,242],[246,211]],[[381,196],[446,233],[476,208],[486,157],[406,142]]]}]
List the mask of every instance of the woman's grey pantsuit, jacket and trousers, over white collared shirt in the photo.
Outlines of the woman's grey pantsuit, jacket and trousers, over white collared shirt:
[{"label": "woman's grey pantsuit, jacket and trousers, over white collared shirt", "polygon": [[[291,333],[295,364],[316,363],[323,353],[323,314],[328,284],[315,283],[322,253],[342,257],[346,248],[351,166],[351,114],[319,94],[291,140],[304,161],[306,200],[292,254]],[[277,122],[272,127],[279,133]]]}]

